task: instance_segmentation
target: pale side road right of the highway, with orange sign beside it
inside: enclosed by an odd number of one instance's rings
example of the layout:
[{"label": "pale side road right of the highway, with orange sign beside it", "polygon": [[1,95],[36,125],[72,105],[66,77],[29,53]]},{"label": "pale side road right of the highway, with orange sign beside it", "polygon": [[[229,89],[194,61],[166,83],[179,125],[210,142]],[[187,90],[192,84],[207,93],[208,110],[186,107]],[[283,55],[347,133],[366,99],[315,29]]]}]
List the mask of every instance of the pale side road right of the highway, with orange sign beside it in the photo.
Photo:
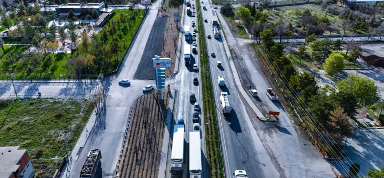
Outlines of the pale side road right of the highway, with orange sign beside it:
[{"label": "pale side road right of the highway, with orange sign beside it", "polygon": [[[223,18],[222,19],[223,22]],[[294,121],[285,112],[279,101],[271,101],[265,94],[265,89],[271,87],[272,81],[264,74],[262,62],[259,61],[254,50],[249,46],[249,40],[234,38],[229,26],[222,24],[226,33],[228,46],[234,52],[235,64],[241,74],[243,87],[249,85],[257,88],[258,96],[254,102],[262,112],[274,110],[280,112],[279,122],[263,123],[253,122],[263,147],[267,150],[274,166],[281,177],[330,177],[334,176],[330,164],[322,159],[317,148],[305,138],[295,125]],[[282,97],[282,96],[280,96]]]}]

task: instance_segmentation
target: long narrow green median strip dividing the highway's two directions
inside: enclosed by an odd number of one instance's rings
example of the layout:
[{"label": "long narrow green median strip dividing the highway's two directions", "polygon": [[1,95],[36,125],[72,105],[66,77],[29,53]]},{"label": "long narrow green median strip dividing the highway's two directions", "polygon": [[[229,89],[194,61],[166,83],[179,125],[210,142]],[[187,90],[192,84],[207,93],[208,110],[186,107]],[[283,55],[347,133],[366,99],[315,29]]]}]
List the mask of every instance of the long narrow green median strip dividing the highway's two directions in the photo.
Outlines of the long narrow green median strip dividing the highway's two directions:
[{"label": "long narrow green median strip dividing the highway's two directions", "polygon": [[205,34],[203,27],[203,17],[201,16],[200,0],[196,0],[197,22],[199,35],[199,53],[201,68],[201,84],[203,90],[203,110],[205,128],[205,146],[208,166],[208,177],[224,177],[223,158],[221,155],[221,145],[216,119],[215,99],[212,88],[212,80],[209,72],[209,61],[206,51]]}]

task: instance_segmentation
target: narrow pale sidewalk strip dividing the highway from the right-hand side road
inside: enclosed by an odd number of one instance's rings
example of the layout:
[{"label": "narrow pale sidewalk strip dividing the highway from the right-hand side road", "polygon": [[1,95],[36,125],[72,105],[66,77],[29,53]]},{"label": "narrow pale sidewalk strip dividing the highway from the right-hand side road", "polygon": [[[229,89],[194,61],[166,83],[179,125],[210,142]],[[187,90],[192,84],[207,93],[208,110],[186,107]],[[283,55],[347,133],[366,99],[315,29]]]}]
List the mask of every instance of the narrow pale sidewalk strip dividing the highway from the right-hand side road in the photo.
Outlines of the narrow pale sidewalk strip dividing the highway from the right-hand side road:
[{"label": "narrow pale sidewalk strip dividing the highway from the right-hand side road", "polygon": [[[218,16],[216,14],[216,16]],[[221,16],[218,16],[219,17],[219,21],[220,21],[220,24],[221,24],[221,21],[223,19],[220,19]],[[223,30],[223,29],[222,29]],[[242,90],[243,89],[243,86],[241,85],[241,82],[240,82],[240,77],[239,77],[239,74],[237,73],[237,70],[236,70],[236,66],[235,66],[235,63],[232,59],[232,55],[231,55],[231,52],[229,51],[229,48],[228,48],[228,44],[226,42],[226,39],[225,39],[225,36],[223,35],[222,36],[222,40],[223,40],[223,45],[224,45],[224,49],[225,49],[225,53],[228,57],[228,60],[229,60],[229,66],[231,67],[231,70],[232,70],[232,74],[234,75],[234,78],[235,78],[235,82],[236,82],[236,86],[239,90],[239,92],[241,93],[241,95],[244,97],[245,101],[249,104],[249,106],[251,106],[251,108],[253,109],[253,111],[256,113],[256,116],[262,120],[262,121],[266,121],[266,118],[264,117],[264,115],[261,113],[260,109],[256,106],[256,104],[254,102],[252,102],[251,98],[247,95],[247,93],[245,92],[245,90]]]}]

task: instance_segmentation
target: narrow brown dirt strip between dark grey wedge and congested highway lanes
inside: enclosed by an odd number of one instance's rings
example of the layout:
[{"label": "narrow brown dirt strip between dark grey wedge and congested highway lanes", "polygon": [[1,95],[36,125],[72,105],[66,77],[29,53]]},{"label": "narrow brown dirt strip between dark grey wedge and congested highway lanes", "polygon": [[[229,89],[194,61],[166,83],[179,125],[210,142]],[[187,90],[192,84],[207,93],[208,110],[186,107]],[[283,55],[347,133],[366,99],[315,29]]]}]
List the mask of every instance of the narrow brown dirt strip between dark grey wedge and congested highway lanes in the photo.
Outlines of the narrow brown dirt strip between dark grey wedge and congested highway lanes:
[{"label": "narrow brown dirt strip between dark grey wedge and congested highway lanes", "polygon": [[180,22],[175,22],[174,13],[179,12],[181,16],[181,9],[166,9],[164,16],[168,17],[166,31],[163,39],[163,48],[161,50],[161,57],[169,57],[172,60],[172,68],[166,71],[166,75],[169,76],[170,72],[174,71],[175,61],[176,61],[176,52],[179,50],[178,41],[179,41],[179,31],[177,27],[180,25]]}]

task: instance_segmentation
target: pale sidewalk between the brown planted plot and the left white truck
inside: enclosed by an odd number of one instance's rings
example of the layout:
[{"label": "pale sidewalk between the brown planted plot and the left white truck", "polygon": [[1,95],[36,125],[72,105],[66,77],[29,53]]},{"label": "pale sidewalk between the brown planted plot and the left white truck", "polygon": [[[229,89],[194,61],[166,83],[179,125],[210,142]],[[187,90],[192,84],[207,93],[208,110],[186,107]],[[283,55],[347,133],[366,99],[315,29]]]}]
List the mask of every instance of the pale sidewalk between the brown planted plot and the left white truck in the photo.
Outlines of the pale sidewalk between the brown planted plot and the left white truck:
[{"label": "pale sidewalk between the brown planted plot and the left white truck", "polygon": [[168,158],[168,148],[169,148],[169,139],[170,139],[170,131],[172,126],[172,112],[174,110],[174,103],[175,103],[175,90],[170,90],[170,98],[169,98],[169,107],[168,107],[168,113],[167,113],[167,119],[166,119],[166,127],[164,128],[164,140],[163,140],[163,147],[161,149],[161,155],[160,155],[160,165],[159,165],[159,175],[158,178],[163,178],[166,175],[166,168],[167,168],[167,158]]}]

